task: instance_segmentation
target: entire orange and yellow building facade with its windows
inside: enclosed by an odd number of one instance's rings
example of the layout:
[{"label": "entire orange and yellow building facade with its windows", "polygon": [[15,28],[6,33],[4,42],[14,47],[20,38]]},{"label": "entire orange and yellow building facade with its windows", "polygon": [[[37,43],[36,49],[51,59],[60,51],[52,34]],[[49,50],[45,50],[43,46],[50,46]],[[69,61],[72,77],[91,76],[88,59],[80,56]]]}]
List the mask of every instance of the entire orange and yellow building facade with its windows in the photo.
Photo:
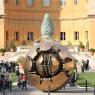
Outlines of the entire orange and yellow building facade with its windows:
[{"label": "entire orange and yellow building facade with its windows", "polygon": [[51,16],[54,40],[95,48],[95,0],[0,0],[0,48],[40,40],[45,13]]}]

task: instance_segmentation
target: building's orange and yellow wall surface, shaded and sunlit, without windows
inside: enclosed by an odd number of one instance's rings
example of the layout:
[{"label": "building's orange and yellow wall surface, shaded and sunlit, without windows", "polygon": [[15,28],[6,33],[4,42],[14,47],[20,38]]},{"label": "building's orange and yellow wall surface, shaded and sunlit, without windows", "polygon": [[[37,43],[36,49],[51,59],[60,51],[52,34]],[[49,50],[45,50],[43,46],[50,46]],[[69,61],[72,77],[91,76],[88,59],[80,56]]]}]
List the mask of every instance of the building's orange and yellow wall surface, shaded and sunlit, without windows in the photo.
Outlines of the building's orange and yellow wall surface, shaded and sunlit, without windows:
[{"label": "building's orange and yellow wall surface, shaded and sunlit, without windows", "polygon": [[[20,0],[19,5],[14,5],[13,0],[9,0],[5,4],[6,18],[3,32],[9,32],[8,44],[14,40],[14,32],[20,33],[19,41],[15,41],[16,45],[20,45],[23,40],[26,40],[27,44],[32,43],[32,41],[27,41],[28,32],[34,33],[34,40],[40,39],[42,20],[44,14],[48,12],[54,25],[53,39],[60,40],[60,32],[66,32],[66,40],[61,41],[62,44],[66,45],[70,41],[72,45],[78,45],[79,41],[82,41],[85,45],[89,41],[90,47],[95,47],[94,40],[91,37],[94,35],[95,24],[88,17],[87,0],[80,0],[78,5],[74,5],[73,0],[66,0],[66,5],[63,6],[60,6],[60,0],[51,0],[49,7],[43,6],[42,0],[34,0],[33,5],[29,7],[26,1]],[[95,17],[93,17],[94,19]],[[74,40],[75,31],[79,32],[79,40]],[[85,37],[85,31],[88,31],[88,39]],[[4,38],[5,43],[6,38]]]}]

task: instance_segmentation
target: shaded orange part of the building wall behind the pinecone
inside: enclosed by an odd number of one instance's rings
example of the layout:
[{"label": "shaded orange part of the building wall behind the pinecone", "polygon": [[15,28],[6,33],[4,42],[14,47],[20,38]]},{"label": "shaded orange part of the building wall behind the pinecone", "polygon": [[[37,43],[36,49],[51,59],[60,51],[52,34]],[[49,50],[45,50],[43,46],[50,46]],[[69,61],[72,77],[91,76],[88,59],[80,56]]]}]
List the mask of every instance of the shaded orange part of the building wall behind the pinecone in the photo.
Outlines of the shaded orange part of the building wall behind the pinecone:
[{"label": "shaded orange part of the building wall behind the pinecone", "polygon": [[51,15],[53,25],[55,28],[54,39],[59,40],[59,6],[58,0],[52,0],[49,7],[44,7],[42,0],[34,1],[31,7],[27,6],[26,0],[21,0],[20,5],[13,5],[13,0],[10,0],[6,4],[5,13],[7,17],[5,19],[5,31],[9,32],[9,43],[14,39],[14,32],[20,33],[20,40],[15,41],[17,45],[20,45],[23,40],[26,40],[28,44],[32,41],[27,41],[27,33],[33,32],[34,40],[40,39],[41,24],[45,13]]}]

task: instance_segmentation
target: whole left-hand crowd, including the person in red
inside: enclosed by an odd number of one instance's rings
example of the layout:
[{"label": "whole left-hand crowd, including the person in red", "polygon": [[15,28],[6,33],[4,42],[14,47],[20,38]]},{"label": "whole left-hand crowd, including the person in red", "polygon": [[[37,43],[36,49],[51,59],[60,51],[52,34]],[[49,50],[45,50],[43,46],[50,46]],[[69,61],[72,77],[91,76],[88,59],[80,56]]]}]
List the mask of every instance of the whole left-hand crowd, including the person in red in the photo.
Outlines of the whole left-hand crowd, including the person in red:
[{"label": "whole left-hand crowd, including the person in red", "polygon": [[11,73],[15,73],[17,77],[18,86],[27,89],[27,78],[25,74],[19,72],[19,65],[16,62],[0,62],[0,91],[12,90]]}]

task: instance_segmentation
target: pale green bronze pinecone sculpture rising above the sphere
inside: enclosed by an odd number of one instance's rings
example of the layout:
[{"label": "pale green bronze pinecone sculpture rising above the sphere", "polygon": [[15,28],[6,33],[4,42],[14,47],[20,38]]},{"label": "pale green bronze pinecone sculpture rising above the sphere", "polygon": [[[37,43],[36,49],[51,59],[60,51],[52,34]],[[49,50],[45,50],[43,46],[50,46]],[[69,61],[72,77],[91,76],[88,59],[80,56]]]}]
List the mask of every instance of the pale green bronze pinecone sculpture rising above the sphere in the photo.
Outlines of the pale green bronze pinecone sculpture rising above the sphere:
[{"label": "pale green bronze pinecone sculpture rising above the sphere", "polygon": [[43,39],[51,39],[54,32],[53,24],[48,13],[45,14],[41,26],[41,34]]}]

